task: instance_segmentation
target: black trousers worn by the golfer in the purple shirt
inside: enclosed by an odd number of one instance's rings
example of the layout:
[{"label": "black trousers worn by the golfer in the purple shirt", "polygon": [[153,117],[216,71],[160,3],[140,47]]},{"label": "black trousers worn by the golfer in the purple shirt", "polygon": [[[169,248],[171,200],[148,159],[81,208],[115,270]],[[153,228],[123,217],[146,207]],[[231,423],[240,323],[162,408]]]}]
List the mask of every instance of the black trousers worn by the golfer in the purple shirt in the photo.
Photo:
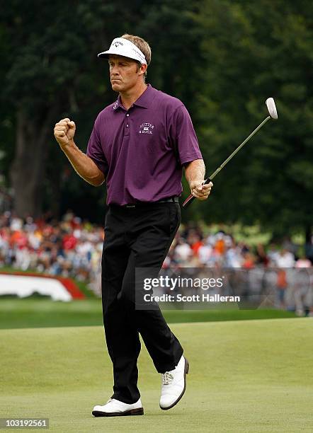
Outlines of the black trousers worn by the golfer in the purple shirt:
[{"label": "black trousers worn by the golfer in the purple shirt", "polygon": [[158,270],[181,222],[178,203],[138,207],[110,205],[102,256],[103,324],[113,362],[113,396],[124,403],[140,398],[137,358],[140,337],[159,373],[174,369],[183,348],[159,309],[135,308],[135,268]]}]

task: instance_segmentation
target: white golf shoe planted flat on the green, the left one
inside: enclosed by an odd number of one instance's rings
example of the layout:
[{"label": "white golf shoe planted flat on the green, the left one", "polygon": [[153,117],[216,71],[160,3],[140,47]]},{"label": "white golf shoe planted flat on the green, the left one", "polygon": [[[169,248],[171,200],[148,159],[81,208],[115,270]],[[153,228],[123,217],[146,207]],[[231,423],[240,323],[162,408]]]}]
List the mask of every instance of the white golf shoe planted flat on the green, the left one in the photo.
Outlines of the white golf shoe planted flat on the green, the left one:
[{"label": "white golf shoe planted flat on the green, the left one", "polygon": [[127,415],[144,415],[144,408],[139,399],[131,405],[123,403],[123,401],[110,398],[103,406],[96,405],[93,408],[92,415],[94,417],[124,417]]}]

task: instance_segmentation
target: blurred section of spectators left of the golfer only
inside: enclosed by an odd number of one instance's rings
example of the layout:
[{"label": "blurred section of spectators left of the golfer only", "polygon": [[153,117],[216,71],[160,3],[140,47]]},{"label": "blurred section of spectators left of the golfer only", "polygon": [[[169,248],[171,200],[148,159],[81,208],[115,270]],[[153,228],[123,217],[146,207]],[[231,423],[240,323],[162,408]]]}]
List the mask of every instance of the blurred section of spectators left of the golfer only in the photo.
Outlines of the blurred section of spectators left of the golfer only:
[{"label": "blurred section of spectators left of the golfer only", "polygon": [[[75,277],[98,284],[103,228],[67,212],[61,221],[0,215],[0,267]],[[92,287],[91,287],[92,288]]]}]

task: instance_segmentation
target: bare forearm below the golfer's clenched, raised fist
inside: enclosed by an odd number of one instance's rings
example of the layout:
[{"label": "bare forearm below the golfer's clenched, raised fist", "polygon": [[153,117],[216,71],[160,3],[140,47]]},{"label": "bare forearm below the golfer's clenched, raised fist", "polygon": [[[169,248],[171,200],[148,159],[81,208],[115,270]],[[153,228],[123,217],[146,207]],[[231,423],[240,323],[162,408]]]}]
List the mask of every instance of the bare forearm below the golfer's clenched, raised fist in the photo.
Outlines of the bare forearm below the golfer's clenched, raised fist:
[{"label": "bare forearm below the golfer's clenched, raised fist", "polygon": [[71,145],[62,146],[62,151],[64,151],[76,173],[86,180],[86,182],[93,186],[99,186],[104,182],[105,177],[103,172],[89,156],[76,146],[74,141],[72,141]]}]

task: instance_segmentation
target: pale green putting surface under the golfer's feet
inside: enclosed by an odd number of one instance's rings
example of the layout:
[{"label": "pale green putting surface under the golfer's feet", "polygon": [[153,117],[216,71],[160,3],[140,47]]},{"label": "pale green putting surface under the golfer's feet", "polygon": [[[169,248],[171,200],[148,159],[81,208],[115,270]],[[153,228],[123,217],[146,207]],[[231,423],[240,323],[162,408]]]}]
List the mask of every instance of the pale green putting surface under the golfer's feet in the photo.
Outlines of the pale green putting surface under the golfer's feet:
[{"label": "pale green putting surface under the golfer's feet", "polygon": [[190,362],[186,396],[159,409],[140,355],[145,415],[93,418],[111,395],[103,328],[0,330],[0,417],[49,417],[55,432],[312,432],[312,318],[171,325]]}]

